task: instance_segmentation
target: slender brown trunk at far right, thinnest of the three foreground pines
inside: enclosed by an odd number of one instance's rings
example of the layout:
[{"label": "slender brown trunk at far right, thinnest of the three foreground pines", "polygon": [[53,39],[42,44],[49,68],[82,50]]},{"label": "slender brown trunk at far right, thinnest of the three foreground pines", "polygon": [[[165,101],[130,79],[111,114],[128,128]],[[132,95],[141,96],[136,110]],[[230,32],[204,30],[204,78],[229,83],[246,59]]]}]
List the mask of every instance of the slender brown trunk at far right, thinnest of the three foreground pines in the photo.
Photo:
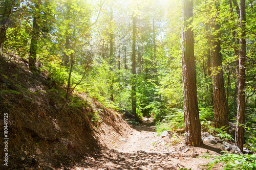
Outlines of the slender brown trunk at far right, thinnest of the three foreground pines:
[{"label": "slender brown trunk at far right, thinnest of the three foreground pines", "polygon": [[244,128],[245,123],[245,56],[246,56],[246,41],[245,41],[245,0],[240,0],[240,52],[239,52],[239,84],[238,84],[238,115],[236,126],[236,145],[243,152],[244,148]]}]

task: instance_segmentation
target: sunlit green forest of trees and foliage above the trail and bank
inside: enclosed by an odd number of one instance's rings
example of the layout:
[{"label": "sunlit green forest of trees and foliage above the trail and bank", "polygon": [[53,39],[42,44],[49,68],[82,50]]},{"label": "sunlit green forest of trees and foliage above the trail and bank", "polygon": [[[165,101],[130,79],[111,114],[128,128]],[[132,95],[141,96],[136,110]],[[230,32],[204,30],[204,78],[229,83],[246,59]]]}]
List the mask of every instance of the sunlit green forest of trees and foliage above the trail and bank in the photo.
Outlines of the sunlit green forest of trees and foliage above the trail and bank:
[{"label": "sunlit green forest of trees and foliage above the trail and bank", "polygon": [[[0,0],[3,125],[10,98],[40,107],[36,93],[49,96],[62,116],[93,100],[134,124],[153,118],[159,133],[183,129],[185,145],[199,147],[208,131],[239,150],[220,156],[243,162],[226,169],[254,169],[255,35],[255,0]],[[4,61],[32,76],[17,78]],[[32,94],[23,82],[41,75],[51,88]],[[90,112],[92,124],[101,111]]]}]

